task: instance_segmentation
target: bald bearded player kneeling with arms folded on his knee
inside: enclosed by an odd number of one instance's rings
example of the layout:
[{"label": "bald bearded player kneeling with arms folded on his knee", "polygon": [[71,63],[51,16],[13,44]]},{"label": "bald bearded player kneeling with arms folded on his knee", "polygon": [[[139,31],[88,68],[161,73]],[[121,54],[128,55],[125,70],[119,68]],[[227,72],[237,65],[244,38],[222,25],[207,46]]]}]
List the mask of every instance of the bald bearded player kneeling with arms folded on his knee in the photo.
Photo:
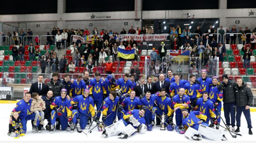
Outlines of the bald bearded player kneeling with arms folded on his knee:
[{"label": "bald bearded player kneeling with arms folded on his knee", "polygon": [[177,126],[182,124],[182,109],[188,109],[190,107],[189,97],[185,94],[185,89],[180,88],[179,94],[176,94],[172,98],[172,107],[175,111],[175,121]]}]

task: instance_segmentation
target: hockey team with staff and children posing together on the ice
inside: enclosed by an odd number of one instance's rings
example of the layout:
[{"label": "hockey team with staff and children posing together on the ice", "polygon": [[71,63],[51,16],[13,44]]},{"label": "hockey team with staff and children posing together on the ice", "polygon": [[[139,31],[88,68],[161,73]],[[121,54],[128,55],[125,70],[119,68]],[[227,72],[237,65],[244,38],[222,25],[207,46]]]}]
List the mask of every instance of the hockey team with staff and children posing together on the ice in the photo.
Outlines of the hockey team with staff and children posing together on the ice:
[{"label": "hockey team with staff and children posing together on the ice", "polygon": [[[54,72],[46,85],[42,83],[44,77],[40,74],[38,82],[31,85],[30,91],[12,110],[8,135],[15,138],[24,136],[28,120],[32,120],[32,132],[41,132],[45,130],[44,119],[48,121],[45,128],[51,133],[60,130],[60,127],[61,130],[70,127],[71,132],[78,132],[79,127],[85,129],[86,125],[91,127],[92,122],[96,122],[95,127],[103,131],[102,137],[118,134],[119,138],[128,138],[136,131],[152,131],[155,125],[161,125],[168,131],[175,129],[179,133],[184,133],[189,127],[198,130],[200,124],[218,130],[222,100],[228,127],[226,130],[235,131],[234,114],[237,112],[241,118],[243,111],[249,134],[252,134],[248,110],[252,103],[252,92],[242,79],[237,79],[236,84],[223,75],[223,82],[218,82],[218,77],[208,78],[206,70],[201,71],[202,77],[198,79],[190,75],[189,81],[180,79],[178,74],[173,75],[172,70],[168,70],[167,75],[165,78],[164,74],[160,74],[159,81],[154,83],[152,77],[148,77],[146,84],[145,79],[141,78],[137,84],[133,81],[134,76],[129,74],[115,79],[111,74],[102,78],[96,72],[94,78],[90,78],[89,73],[84,72],[84,77],[78,75],[70,80],[70,75],[65,74],[64,79],[60,80],[59,74]],[[240,90],[246,91],[243,101],[239,101],[237,95],[242,93]],[[236,111],[233,109],[235,106]],[[176,124],[173,123],[174,112]],[[235,132],[239,132],[240,119],[236,118],[236,121]],[[118,130],[117,127],[122,126]]]}]

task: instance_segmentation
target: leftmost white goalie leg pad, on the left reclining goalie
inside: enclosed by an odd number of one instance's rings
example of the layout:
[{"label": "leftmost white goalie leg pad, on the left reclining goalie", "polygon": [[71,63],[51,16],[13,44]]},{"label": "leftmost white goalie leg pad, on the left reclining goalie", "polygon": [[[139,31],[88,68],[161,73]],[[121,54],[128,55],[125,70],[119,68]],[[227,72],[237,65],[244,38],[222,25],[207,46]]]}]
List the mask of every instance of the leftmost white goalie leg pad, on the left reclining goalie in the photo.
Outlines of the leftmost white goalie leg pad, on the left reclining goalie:
[{"label": "leftmost white goalie leg pad, on the left reclining goalie", "polygon": [[119,120],[114,124],[111,124],[110,126],[107,126],[104,128],[106,133],[108,134],[108,137],[117,135],[118,133],[122,132],[125,128],[123,120]]}]

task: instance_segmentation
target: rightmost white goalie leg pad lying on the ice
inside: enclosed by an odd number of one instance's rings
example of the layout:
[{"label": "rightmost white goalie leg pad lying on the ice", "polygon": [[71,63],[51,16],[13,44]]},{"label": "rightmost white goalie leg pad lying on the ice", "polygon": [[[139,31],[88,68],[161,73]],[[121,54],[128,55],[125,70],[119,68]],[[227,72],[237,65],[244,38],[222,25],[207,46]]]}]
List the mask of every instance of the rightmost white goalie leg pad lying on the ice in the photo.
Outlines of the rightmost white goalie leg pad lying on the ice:
[{"label": "rightmost white goalie leg pad lying on the ice", "polygon": [[202,136],[212,140],[227,140],[223,132],[207,127],[203,124],[199,124],[198,132],[200,132]]}]

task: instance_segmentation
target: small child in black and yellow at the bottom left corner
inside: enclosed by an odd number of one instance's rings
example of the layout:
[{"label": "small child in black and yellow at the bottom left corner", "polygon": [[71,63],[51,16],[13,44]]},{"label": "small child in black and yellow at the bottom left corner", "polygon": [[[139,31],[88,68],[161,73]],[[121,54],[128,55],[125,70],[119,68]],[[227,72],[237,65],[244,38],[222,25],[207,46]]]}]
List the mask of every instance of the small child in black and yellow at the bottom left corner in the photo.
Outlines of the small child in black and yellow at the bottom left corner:
[{"label": "small child in black and yellow at the bottom left corner", "polygon": [[8,136],[14,137],[14,139],[18,139],[20,136],[25,136],[17,111],[12,113],[12,124],[9,124],[9,132],[7,134]]}]

